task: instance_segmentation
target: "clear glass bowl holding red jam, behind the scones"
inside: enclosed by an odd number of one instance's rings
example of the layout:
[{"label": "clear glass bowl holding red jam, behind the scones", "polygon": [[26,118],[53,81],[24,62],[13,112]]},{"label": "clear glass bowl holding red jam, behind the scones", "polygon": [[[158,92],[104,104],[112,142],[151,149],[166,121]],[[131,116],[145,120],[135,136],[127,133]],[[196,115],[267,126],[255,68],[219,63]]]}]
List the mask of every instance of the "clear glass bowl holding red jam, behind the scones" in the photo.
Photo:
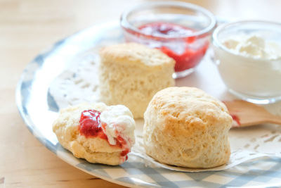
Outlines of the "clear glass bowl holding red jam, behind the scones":
[{"label": "clear glass bowl holding red jam, behind the scones", "polygon": [[178,1],[133,6],[122,13],[120,22],[126,42],[145,44],[174,58],[175,78],[185,77],[195,70],[216,27],[212,13]]}]

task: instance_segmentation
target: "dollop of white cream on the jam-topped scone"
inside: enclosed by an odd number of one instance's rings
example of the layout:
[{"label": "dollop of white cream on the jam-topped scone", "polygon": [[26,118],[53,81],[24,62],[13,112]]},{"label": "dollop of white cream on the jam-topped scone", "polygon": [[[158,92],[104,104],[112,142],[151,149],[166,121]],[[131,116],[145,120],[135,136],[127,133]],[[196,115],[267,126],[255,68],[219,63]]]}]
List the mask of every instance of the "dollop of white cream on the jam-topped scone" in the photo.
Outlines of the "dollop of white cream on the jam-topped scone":
[{"label": "dollop of white cream on the jam-topped scone", "polygon": [[115,145],[117,137],[122,137],[131,148],[135,143],[135,120],[129,108],[123,105],[108,106],[100,113],[101,123],[106,123],[103,132],[107,135],[108,142]]}]

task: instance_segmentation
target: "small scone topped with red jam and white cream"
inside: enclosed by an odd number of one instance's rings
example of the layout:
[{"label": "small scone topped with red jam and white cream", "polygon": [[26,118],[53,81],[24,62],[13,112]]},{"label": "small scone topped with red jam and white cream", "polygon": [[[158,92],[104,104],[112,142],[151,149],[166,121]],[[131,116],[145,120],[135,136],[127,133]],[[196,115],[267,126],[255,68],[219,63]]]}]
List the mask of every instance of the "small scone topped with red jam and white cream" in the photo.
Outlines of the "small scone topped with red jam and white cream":
[{"label": "small scone topped with red jam and white cream", "polygon": [[126,106],[80,104],[60,111],[53,123],[58,142],[77,158],[118,165],[135,142],[135,121]]}]

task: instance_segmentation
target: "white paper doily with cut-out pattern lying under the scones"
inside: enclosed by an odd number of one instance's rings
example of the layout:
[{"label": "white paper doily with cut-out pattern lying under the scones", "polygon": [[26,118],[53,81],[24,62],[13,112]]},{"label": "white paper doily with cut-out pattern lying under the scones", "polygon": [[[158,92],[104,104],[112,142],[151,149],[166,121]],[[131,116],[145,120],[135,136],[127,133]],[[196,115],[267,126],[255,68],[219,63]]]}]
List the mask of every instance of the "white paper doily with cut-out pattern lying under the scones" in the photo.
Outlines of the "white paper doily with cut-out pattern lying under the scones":
[{"label": "white paper doily with cut-out pattern lying under the scones", "polygon": [[[49,92],[59,108],[80,104],[85,101],[89,103],[99,101],[98,62],[97,50],[87,51],[77,56],[68,68],[53,80],[49,87]],[[202,63],[198,65],[195,73],[176,80],[176,85],[198,87],[222,101],[235,99],[233,95],[227,92],[216,70],[216,65],[211,62],[210,51],[208,51]],[[281,115],[281,102],[266,105],[265,108],[275,115]],[[183,172],[199,172],[225,170],[245,161],[264,156],[281,157],[281,127],[278,125],[256,125],[230,130],[231,156],[226,165],[209,169],[190,169],[164,165],[145,154],[142,146],[143,120],[137,120],[136,122],[137,142],[133,146],[131,154],[144,158],[148,165]]]}]

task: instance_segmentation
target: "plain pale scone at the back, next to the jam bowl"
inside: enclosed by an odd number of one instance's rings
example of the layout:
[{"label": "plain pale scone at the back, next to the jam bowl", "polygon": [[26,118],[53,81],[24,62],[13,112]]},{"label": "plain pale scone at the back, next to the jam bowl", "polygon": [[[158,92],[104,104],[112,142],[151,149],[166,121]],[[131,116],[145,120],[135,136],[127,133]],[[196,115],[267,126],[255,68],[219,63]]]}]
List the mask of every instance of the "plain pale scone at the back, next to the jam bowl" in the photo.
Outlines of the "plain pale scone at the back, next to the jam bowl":
[{"label": "plain pale scone at the back, next to the jam bowl", "polygon": [[100,51],[100,100],[123,104],[134,118],[143,118],[152,96],[174,86],[174,64],[174,59],[142,44],[107,46]]}]

